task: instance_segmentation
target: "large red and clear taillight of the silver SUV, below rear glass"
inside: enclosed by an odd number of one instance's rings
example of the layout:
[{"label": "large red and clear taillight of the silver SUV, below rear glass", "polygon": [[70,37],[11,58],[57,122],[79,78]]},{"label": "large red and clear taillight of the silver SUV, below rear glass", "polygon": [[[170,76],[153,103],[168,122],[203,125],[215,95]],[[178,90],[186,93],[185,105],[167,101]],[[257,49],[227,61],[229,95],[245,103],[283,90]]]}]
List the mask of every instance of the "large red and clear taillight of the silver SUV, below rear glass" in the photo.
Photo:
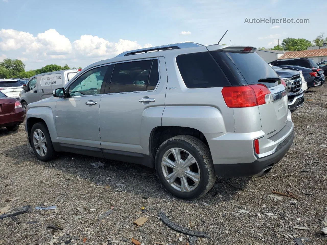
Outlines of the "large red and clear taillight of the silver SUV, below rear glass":
[{"label": "large red and clear taillight of the silver SUV, below rear glass", "polygon": [[263,84],[224,87],[221,93],[231,108],[260,106],[274,101],[270,90]]}]

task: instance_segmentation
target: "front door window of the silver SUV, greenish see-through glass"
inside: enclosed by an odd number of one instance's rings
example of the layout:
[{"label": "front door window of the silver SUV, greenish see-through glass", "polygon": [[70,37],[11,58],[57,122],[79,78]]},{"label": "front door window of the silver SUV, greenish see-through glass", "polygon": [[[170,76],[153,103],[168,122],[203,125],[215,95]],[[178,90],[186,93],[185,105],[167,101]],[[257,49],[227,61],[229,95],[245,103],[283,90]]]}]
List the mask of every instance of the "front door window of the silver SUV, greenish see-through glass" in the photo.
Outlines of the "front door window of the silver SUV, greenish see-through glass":
[{"label": "front door window of the silver SUV, greenish see-through glass", "polygon": [[100,94],[103,78],[106,74],[107,69],[108,66],[98,67],[78,77],[69,86],[68,96],[76,97],[83,95]]}]

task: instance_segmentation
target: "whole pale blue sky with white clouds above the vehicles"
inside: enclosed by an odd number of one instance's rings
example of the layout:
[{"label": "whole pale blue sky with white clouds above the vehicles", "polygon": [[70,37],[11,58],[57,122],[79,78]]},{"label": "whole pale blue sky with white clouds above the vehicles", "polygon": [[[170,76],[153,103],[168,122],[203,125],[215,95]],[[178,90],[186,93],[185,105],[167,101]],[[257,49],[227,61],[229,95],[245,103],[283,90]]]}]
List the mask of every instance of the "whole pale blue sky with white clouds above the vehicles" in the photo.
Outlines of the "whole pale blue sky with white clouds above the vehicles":
[{"label": "whole pale blue sky with white clouds above the vehicles", "polygon": [[[256,47],[273,47],[278,38],[327,35],[327,1],[0,0],[0,9],[0,60],[20,58],[26,70],[85,67],[130,49],[182,41],[213,44],[226,30],[221,43]],[[310,24],[244,23],[269,17]]]}]

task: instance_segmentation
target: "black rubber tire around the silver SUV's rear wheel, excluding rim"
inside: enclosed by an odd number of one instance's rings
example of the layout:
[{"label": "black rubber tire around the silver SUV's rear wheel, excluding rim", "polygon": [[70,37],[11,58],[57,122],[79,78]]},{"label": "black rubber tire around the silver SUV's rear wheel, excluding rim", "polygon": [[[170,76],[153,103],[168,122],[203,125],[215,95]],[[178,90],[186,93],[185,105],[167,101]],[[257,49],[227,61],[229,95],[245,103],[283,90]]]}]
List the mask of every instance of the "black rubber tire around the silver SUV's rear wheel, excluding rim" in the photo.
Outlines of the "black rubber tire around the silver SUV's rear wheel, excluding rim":
[{"label": "black rubber tire around the silver SUV's rear wheel, excluding rim", "polygon": [[[176,188],[172,187],[164,177],[161,161],[164,154],[169,151],[169,149],[174,147],[187,151],[198,163],[200,180],[198,181],[196,188],[188,192],[182,192],[181,190],[177,190]],[[155,168],[163,186],[171,194],[182,199],[202,197],[213,187],[216,181],[215,169],[209,148],[201,140],[189,135],[179,135],[164,141],[156,153]]]}]

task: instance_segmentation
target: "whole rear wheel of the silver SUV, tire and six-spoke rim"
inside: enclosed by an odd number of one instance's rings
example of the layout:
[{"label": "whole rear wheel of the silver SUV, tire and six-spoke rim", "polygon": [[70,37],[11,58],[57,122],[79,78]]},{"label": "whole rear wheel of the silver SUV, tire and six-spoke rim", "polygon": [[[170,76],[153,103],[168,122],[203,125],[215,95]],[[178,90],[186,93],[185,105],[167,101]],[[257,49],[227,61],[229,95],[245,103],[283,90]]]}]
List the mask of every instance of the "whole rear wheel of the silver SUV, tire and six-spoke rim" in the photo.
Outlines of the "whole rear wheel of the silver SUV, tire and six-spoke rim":
[{"label": "whole rear wheel of the silver SUV, tire and six-spoke rim", "polygon": [[155,167],[163,186],[183,199],[203,196],[216,180],[208,147],[189,135],[163,142],[156,153]]}]

